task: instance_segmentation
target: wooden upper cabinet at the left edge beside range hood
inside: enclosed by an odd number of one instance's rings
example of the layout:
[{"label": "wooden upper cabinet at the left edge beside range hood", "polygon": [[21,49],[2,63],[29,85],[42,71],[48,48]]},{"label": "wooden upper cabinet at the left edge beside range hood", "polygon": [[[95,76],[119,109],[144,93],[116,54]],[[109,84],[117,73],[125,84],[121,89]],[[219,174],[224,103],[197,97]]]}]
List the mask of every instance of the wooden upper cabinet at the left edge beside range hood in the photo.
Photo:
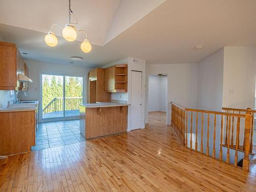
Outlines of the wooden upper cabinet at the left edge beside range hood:
[{"label": "wooden upper cabinet at the left edge beside range hood", "polygon": [[18,90],[19,56],[15,44],[0,41],[0,90]]}]

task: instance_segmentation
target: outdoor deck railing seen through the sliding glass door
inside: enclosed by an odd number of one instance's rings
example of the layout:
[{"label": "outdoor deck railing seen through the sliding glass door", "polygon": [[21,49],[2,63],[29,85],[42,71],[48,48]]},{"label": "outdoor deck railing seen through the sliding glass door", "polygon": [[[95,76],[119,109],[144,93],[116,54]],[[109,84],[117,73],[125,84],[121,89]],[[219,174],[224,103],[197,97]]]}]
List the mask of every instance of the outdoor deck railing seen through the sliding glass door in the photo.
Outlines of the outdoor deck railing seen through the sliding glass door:
[{"label": "outdoor deck railing seen through the sliding glass door", "polygon": [[[46,105],[42,110],[43,114],[63,111],[63,98],[56,97]],[[66,97],[65,98],[65,110],[79,110],[79,104],[82,103],[82,97]]]}]

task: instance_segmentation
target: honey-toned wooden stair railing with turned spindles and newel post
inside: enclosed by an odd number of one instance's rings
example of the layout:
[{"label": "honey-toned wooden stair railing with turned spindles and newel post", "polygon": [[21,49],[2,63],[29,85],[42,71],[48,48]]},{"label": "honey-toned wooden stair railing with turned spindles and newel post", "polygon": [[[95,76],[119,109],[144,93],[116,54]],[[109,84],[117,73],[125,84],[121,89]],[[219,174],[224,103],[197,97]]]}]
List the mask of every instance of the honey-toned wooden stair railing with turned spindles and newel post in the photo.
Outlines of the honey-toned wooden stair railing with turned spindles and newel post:
[{"label": "honey-toned wooden stair railing with turned spindles and newel post", "polygon": [[[174,102],[171,104],[171,125],[183,145],[237,167],[239,146],[244,143],[242,168],[249,171],[252,126],[250,108],[247,108],[245,114],[237,114],[188,109]],[[230,148],[234,154],[230,155]]]}]

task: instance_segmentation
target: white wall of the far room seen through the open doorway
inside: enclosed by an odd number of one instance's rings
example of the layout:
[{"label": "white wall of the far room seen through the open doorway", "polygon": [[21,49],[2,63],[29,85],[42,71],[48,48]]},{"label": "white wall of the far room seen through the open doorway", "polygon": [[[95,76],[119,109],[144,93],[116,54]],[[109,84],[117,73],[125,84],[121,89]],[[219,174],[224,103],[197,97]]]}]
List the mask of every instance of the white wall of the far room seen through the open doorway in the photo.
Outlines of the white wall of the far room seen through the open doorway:
[{"label": "white wall of the far room seen through the open doorway", "polygon": [[167,76],[148,77],[148,112],[163,111],[167,107]]}]

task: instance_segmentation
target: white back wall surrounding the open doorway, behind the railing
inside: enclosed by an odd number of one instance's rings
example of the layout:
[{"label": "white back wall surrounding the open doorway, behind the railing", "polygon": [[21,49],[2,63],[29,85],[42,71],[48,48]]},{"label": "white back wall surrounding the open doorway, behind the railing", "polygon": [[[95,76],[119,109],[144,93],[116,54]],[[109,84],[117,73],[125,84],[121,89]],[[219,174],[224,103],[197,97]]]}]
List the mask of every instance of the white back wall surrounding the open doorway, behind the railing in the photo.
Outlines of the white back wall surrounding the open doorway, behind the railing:
[{"label": "white back wall surrounding the open doorway, behind the railing", "polygon": [[[161,64],[147,65],[147,77],[150,74],[167,74],[167,101],[176,102],[187,108],[197,107],[197,91],[198,91],[198,64],[197,63],[177,63],[177,64]],[[146,79],[146,89],[148,90],[148,78]],[[147,100],[147,98],[146,98]],[[147,113],[147,105],[146,105]],[[167,110],[167,117],[169,113]],[[146,116],[147,118],[147,116]],[[147,119],[146,119],[147,120]],[[168,118],[168,123],[170,119]]]}]

